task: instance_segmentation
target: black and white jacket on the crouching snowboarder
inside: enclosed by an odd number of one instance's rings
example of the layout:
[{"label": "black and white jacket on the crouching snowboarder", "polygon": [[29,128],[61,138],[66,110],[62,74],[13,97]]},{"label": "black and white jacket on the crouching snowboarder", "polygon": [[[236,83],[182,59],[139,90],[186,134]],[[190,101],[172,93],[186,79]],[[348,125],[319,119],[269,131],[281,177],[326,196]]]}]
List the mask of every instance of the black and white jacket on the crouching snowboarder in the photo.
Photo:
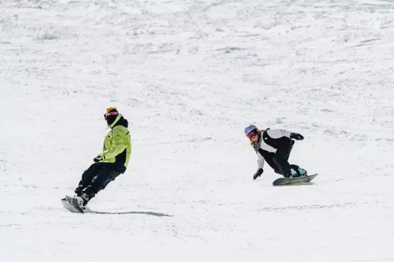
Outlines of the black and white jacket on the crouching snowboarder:
[{"label": "black and white jacket on the crouching snowboarder", "polygon": [[258,168],[264,168],[264,163],[267,161],[271,165],[272,157],[279,148],[286,147],[291,143],[291,132],[285,129],[270,129],[262,130],[259,135],[259,140],[253,144],[253,148],[257,153]]}]

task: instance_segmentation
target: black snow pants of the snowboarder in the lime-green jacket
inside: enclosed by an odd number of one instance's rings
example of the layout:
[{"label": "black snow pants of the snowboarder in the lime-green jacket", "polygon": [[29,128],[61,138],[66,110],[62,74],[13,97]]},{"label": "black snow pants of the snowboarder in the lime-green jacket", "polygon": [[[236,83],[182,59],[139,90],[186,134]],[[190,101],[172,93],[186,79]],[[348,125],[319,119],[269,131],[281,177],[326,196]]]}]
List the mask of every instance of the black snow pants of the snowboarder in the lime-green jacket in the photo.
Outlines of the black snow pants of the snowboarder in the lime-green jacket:
[{"label": "black snow pants of the snowboarder in the lime-green jacket", "polygon": [[89,191],[96,194],[125,171],[125,166],[112,163],[94,163],[84,171],[78,187],[82,189],[88,188],[90,189]]}]

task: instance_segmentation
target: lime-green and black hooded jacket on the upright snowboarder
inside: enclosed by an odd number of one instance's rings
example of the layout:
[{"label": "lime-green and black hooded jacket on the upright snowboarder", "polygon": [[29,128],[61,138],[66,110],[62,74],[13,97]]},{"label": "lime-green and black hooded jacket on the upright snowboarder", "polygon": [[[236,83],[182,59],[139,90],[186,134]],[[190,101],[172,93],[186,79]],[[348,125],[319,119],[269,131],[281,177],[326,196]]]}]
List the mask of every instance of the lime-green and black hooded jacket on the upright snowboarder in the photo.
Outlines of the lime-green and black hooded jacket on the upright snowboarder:
[{"label": "lime-green and black hooded jacket on the upright snowboarder", "polygon": [[127,167],[131,155],[130,132],[127,129],[128,122],[119,114],[111,125],[107,136],[104,139],[103,158],[101,163],[115,163],[119,166]]}]

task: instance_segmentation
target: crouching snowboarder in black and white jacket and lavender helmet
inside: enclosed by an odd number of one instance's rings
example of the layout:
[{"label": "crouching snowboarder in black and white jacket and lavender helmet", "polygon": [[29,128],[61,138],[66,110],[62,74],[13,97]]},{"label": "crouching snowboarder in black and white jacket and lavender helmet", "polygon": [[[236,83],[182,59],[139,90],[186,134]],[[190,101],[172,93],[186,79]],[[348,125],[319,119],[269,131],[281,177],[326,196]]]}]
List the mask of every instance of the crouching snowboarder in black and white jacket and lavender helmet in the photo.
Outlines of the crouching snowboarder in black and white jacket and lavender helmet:
[{"label": "crouching snowboarder in black and white jacket and lavender helmet", "polygon": [[307,175],[305,169],[298,165],[289,164],[289,156],[294,145],[294,140],[303,140],[298,133],[285,129],[259,130],[255,125],[245,128],[245,135],[249,138],[258,156],[258,170],[253,175],[253,180],[261,176],[264,163],[273,168],[275,173],[282,174],[285,178],[303,177]]}]

